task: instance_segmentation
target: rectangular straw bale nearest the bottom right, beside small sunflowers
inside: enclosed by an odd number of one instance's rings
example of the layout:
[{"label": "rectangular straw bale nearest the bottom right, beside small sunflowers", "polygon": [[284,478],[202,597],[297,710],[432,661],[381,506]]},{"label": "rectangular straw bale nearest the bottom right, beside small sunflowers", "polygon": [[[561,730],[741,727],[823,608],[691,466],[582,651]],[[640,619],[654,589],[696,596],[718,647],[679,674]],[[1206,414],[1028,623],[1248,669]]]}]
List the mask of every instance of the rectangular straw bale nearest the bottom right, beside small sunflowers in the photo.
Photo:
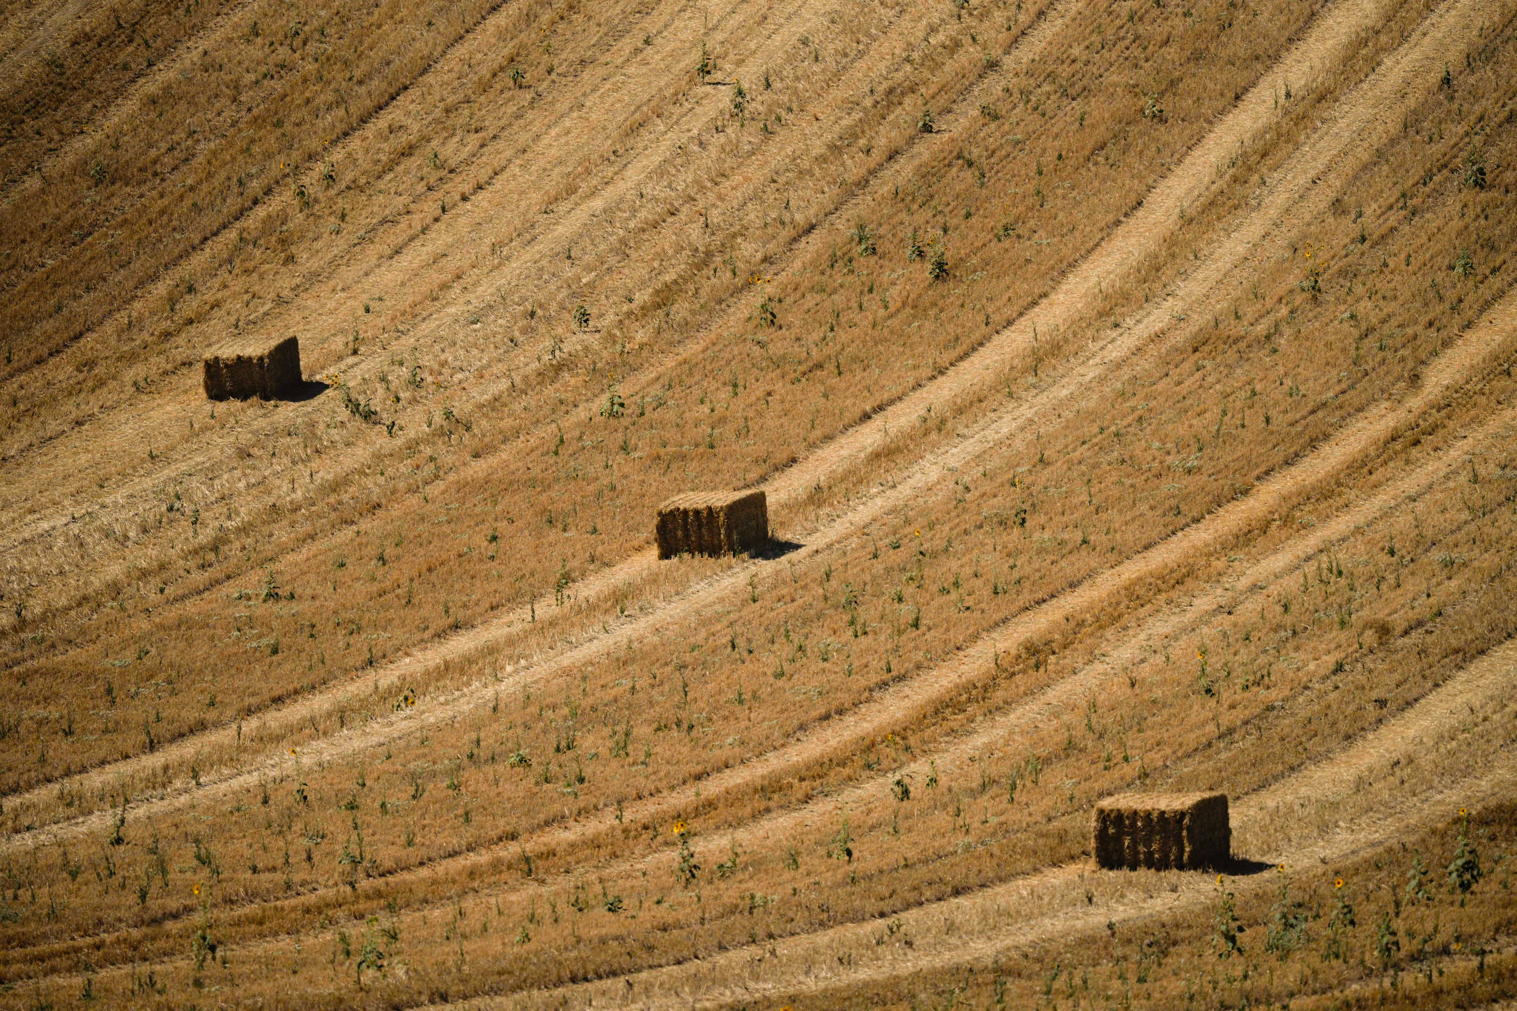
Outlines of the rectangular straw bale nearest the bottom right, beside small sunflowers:
[{"label": "rectangular straw bale nearest the bottom right, beside small sunflowers", "polygon": [[1132,793],[1095,805],[1095,862],[1107,869],[1198,870],[1232,856],[1224,793]]}]

